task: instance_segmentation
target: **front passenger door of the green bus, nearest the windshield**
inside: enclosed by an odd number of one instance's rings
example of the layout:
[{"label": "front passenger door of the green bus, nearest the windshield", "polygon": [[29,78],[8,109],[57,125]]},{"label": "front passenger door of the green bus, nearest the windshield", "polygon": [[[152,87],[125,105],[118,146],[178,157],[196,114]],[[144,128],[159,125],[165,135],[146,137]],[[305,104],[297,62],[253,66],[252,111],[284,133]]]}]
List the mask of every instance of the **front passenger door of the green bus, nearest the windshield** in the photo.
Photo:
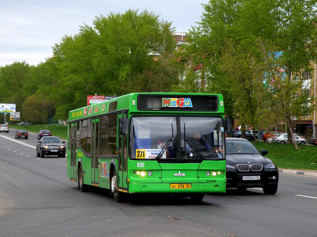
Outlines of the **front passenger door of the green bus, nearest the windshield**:
[{"label": "front passenger door of the green bus, nearest the windshield", "polygon": [[[121,120],[121,114],[119,115],[119,125]],[[119,189],[127,191],[127,136],[119,134],[119,159],[118,159],[118,186]]]}]

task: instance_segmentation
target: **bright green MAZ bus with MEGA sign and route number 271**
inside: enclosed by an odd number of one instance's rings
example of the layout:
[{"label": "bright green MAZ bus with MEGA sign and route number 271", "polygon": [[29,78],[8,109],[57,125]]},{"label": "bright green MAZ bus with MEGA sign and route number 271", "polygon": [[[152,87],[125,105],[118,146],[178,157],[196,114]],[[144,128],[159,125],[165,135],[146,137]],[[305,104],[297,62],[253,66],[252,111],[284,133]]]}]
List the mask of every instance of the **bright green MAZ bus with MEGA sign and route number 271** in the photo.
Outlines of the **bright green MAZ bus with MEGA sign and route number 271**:
[{"label": "bright green MAZ bus with MEGA sign and route number 271", "polygon": [[200,201],[226,190],[223,96],[132,93],[69,112],[67,174],[81,191],[108,189]]}]

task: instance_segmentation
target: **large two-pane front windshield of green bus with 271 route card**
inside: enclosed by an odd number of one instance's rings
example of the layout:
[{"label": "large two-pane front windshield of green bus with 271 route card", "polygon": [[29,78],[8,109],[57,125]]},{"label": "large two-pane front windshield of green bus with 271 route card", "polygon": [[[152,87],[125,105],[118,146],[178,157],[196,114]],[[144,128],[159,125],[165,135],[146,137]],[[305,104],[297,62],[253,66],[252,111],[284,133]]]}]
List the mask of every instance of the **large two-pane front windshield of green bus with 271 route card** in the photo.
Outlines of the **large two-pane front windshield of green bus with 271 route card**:
[{"label": "large two-pane front windshield of green bus with 271 route card", "polygon": [[133,117],[132,159],[219,160],[223,157],[223,122],[218,117]]}]

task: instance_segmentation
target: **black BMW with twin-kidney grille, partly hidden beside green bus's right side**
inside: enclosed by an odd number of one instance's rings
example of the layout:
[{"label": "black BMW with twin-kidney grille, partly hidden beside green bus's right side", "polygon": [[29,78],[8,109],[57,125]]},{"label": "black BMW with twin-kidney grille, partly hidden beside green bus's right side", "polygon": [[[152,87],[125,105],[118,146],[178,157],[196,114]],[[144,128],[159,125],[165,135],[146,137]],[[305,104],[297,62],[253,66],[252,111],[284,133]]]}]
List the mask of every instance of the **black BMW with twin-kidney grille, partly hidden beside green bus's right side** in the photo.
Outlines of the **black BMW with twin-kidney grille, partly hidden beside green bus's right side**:
[{"label": "black BMW with twin-kidney grille, partly hidden beside green bus's right side", "polygon": [[245,190],[262,187],[265,194],[275,194],[278,186],[278,169],[261,152],[243,138],[226,138],[227,188]]}]

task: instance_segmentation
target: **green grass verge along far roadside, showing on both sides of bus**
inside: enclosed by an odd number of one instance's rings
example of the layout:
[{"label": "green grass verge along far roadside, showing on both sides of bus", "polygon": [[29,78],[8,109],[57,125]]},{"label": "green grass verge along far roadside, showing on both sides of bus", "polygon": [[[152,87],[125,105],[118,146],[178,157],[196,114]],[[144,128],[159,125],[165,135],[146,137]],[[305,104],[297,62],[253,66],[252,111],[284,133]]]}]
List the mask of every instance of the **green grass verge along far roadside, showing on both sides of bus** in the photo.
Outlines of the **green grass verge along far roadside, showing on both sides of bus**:
[{"label": "green grass verge along far roadside, showing on both sides of bus", "polygon": [[[67,126],[58,124],[17,126],[9,125],[13,129],[26,129],[37,133],[40,130],[49,130],[53,136],[67,139]],[[317,146],[297,145],[300,150],[294,148],[294,144],[280,143],[256,143],[257,149],[268,150],[267,158],[272,160],[281,169],[317,170]]]}]

